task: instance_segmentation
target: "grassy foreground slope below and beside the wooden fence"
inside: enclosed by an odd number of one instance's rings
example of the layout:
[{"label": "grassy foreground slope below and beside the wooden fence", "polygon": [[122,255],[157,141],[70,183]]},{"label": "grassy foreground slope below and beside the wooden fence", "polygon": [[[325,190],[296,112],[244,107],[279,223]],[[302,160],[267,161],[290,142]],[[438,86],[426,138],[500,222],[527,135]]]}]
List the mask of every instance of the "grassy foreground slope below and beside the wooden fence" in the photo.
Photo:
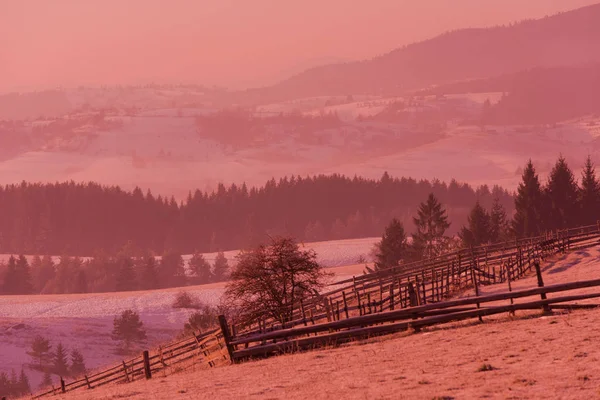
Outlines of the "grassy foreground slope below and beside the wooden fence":
[{"label": "grassy foreground slope below and beside the wooden fence", "polygon": [[[547,260],[547,284],[600,276],[600,249]],[[535,287],[531,276],[515,288]],[[483,287],[483,293],[505,291]],[[590,290],[590,289],[583,289]],[[465,293],[464,295],[470,295]],[[552,297],[553,295],[549,295]],[[600,310],[517,312],[397,334],[335,349],[188,371],[62,398],[492,398],[600,395]],[[491,370],[483,368],[491,366]]]}]

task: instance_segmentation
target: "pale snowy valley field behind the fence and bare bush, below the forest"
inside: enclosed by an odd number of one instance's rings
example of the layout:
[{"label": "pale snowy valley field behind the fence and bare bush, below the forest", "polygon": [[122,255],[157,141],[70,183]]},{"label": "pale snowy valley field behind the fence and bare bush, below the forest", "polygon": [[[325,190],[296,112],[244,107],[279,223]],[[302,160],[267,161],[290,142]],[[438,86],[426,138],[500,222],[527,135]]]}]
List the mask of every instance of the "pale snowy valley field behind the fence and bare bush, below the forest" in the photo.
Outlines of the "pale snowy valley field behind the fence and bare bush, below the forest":
[{"label": "pale snowy valley field behind the fence and bare bush, below the forest", "polygon": [[[330,267],[335,279],[361,274],[364,265],[360,257],[368,258],[377,238],[307,243],[314,249],[319,262]],[[226,252],[233,260],[237,251]],[[215,253],[205,254],[212,262]],[[4,256],[6,258],[6,256]],[[186,256],[184,258],[189,258]],[[216,305],[224,283],[190,286],[184,290],[200,301]],[[137,311],[148,335],[145,347],[172,340],[183,328],[192,310],[173,309],[175,296],[181,289],[154,291],[93,293],[70,295],[3,296],[0,297],[0,370],[20,370],[30,362],[26,354],[32,339],[43,335],[56,345],[62,342],[69,349],[82,351],[87,366],[95,368],[118,362],[123,356],[115,354],[116,342],[111,339],[115,315],[126,309]],[[41,374],[27,370],[33,386]]]}]

